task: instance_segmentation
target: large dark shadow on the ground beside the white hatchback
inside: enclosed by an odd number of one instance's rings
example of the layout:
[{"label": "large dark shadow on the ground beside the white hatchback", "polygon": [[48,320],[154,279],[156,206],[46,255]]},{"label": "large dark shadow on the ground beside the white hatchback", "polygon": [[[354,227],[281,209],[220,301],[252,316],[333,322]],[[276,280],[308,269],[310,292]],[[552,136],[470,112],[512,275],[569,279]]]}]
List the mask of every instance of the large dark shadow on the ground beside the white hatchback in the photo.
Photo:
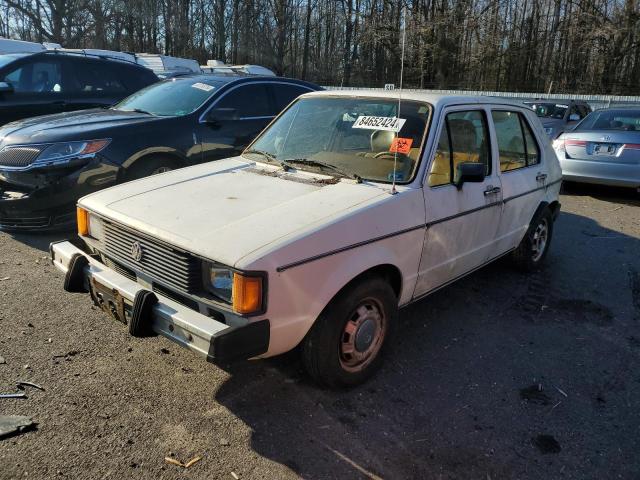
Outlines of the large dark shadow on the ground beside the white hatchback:
[{"label": "large dark shadow on the ground beside the white hatchback", "polygon": [[236,365],[214,398],[257,454],[308,479],[630,478],[638,251],[563,213],[542,271],[501,260],[403,309],[365,385],[320,389],[290,353]]}]

